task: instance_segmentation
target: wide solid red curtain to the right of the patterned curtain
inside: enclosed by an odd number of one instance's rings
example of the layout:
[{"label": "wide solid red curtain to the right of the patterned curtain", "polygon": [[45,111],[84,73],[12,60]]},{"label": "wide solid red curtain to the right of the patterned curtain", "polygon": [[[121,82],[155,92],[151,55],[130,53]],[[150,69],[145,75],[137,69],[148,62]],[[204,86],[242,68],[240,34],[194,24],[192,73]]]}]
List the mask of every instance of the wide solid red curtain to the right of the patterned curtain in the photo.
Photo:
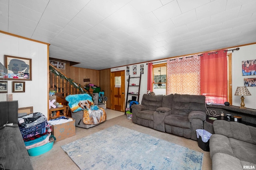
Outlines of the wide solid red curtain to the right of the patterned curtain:
[{"label": "wide solid red curtain to the right of the patterned curtain", "polygon": [[215,104],[227,102],[228,72],[225,51],[227,50],[202,54],[200,86],[201,95],[206,96],[206,102]]}]

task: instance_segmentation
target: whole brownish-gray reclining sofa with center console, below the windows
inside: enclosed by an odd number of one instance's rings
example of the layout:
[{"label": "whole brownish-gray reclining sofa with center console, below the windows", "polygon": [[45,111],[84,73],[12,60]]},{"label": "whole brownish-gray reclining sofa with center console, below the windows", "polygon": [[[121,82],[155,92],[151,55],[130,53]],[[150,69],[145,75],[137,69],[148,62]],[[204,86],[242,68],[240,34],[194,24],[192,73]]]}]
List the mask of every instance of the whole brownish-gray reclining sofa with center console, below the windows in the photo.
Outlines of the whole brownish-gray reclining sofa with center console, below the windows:
[{"label": "whole brownish-gray reclining sofa with center console, below the windows", "polygon": [[141,104],[131,107],[133,123],[193,140],[206,120],[205,96],[201,95],[144,94]]}]

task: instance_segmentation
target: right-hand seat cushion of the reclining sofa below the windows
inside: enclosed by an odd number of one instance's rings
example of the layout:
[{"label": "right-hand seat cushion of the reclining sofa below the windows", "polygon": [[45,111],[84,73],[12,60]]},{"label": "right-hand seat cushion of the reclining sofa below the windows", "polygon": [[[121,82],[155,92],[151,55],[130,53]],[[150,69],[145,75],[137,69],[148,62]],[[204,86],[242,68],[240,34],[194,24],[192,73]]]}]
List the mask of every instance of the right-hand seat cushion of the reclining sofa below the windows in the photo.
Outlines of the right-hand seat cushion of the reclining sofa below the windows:
[{"label": "right-hand seat cushion of the reclining sofa below the windows", "polygon": [[188,116],[186,115],[168,115],[164,119],[164,123],[176,127],[191,128],[191,124],[188,121]]}]

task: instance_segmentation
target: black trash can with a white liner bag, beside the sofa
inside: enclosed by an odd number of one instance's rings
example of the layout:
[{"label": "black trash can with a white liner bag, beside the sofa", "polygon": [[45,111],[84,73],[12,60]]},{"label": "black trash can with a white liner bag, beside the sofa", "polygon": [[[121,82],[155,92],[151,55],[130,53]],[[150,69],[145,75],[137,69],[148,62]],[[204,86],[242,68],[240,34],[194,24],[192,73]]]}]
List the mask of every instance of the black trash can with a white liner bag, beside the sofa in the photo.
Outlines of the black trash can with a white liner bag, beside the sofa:
[{"label": "black trash can with a white liner bag, beside the sofa", "polygon": [[196,137],[198,142],[198,147],[202,150],[209,152],[209,139],[212,136],[212,133],[204,130],[204,129],[196,129]]}]

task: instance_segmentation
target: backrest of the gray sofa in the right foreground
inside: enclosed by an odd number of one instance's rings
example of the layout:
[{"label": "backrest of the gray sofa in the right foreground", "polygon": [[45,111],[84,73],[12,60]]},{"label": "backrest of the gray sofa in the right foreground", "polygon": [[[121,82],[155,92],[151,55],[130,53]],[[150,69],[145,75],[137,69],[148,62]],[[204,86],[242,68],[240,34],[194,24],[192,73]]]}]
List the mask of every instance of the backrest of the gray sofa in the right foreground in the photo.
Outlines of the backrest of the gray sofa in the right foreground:
[{"label": "backrest of the gray sofa in the right foreground", "polygon": [[226,137],[231,137],[240,141],[256,144],[254,141],[255,137],[253,140],[250,133],[250,129],[252,130],[252,133],[256,133],[256,127],[250,127],[249,129],[247,125],[242,123],[216,120],[213,122],[213,129],[214,133],[216,134],[225,135]]}]

